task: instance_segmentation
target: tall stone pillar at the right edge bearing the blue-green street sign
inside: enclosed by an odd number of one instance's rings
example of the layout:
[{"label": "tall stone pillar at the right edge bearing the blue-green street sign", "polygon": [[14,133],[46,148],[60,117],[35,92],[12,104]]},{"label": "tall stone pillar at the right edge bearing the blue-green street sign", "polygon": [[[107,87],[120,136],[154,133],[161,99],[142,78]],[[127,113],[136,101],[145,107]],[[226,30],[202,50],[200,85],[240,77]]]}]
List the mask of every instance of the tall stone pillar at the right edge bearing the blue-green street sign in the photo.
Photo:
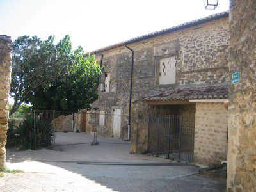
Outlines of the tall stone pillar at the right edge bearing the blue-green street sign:
[{"label": "tall stone pillar at the right edge bearing the blue-green street sign", "polygon": [[256,1],[230,1],[228,191],[256,191]]}]

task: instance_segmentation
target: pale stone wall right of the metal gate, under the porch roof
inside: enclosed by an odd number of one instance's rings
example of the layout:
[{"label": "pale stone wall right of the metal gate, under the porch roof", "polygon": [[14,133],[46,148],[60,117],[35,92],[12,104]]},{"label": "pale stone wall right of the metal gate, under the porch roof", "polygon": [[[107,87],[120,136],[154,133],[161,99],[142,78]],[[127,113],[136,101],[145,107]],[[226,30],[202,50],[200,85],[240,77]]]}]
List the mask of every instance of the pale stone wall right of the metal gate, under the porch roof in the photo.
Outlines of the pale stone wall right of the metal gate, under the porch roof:
[{"label": "pale stone wall right of the metal gate, under the porch roof", "polygon": [[227,160],[228,111],[223,103],[196,103],[195,162],[209,165]]}]

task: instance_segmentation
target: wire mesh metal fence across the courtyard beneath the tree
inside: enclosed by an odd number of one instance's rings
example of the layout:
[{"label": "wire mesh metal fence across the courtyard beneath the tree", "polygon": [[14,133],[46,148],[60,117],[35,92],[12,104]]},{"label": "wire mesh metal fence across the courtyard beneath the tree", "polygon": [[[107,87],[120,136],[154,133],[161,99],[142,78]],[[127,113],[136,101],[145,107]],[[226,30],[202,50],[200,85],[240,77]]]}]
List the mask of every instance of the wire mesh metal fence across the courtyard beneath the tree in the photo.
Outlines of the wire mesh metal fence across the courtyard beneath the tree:
[{"label": "wire mesh metal fence across the courtyard beneath the tree", "polygon": [[68,111],[34,111],[37,147],[90,143],[127,143],[127,115],[116,113]]}]

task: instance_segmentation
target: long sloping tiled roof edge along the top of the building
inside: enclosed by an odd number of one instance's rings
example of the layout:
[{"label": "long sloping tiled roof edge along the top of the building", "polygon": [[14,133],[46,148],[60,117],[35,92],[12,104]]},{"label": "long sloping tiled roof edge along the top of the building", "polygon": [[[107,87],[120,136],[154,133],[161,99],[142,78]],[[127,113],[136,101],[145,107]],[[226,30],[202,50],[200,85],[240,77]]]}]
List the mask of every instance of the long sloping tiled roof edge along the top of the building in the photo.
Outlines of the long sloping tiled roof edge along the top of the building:
[{"label": "long sloping tiled roof edge along the top of the building", "polygon": [[189,28],[191,26],[195,26],[196,24],[202,24],[204,22],[211,21],[211,20],[214,20],[214,19],[220,19],[221,17],[225,17],[225,16],[228,16],[228,11],[227,12],[216,13],[214,15],[209,15],[207,17],[204,17],[204,18],[201,18],[201,19],[196,19],[196,20],[193,20],[193,21],[190,21],[190,22],[185,22],[185,23],[180,24],[178,26],[173,26],[172,28],[167,28],[167,29],[163,29],[163,30],[160,30],[160,31],[155,31],[153,33],[148,33],[147,35],[137,36],[135,38],[131,38],[131,39],[129,39],[127,41],[124,41],[124,42],[119,42],[117,44],[113,44],[113,45],[109,45],[107,47],[103,47],[102,49],[97,49],[95,51],[87,52],[86,54],[97,54],[97,53],[100,53],[102,51],[107,51],[109,49],[113,49],[115,47],[131,44],[133,42],[138,42],[140,40],[145,40],[147,38],[151,38],[151,37],[154,37],[154,36],[163,35],[165,33],[170,33],[172,31],[177,31],[179,29]]}]

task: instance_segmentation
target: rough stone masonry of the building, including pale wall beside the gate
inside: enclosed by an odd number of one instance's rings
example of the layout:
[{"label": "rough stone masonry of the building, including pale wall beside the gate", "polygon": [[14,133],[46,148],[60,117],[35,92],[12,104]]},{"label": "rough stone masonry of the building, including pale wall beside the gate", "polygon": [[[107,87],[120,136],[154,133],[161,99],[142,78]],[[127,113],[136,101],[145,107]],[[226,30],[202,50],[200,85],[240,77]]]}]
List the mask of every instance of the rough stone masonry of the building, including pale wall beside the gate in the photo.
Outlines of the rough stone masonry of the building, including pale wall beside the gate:
[{"label": "rough stone masonry of the building, including pale wall beside the gate", "polygon": [[[134,50],[132,77],[132,115],[131,115],[131,148],[132,153],[142,153],[148,149],[148,115],[159,105],[148,105],[145,102],[134,103],[141,97],[156,95],[159,92],[175,88],[194,88],[202,86],[222,86],[228,83],[228,14],[220,17],[177,29],[170,33],[132,42],[129,47]],[[116,109],[122,110],[120,138],[127,138],[127,114],[129,113],[129,88],[131,80],[131,51],[124,45],[97,54],[97,60],[110,74],[109,92],[99,92],[99,99],[93,107],[105,111],[105,127],[100,132],[104,136],[113,135],[111,114]],[[160,60],[176,56],[176,77],[173,84],[159,84]],[[220,104],[212,104],[215,112],[211,124],[205,124],[204,104],[196,104],[190,118],[195,119],[195,111],[200,118],[196,120],[195,159],[198,163],[221,163],[227,158],[227,111]],[[172,113],[172,106],[168,106]],[[212,108],[210,108],[212,109]],[[200,112],[201,110],[201,112]],[[213,112],[212,112],[213,113]],[[219,122],[219,116],[225,117]],[[221,117],[222,118],[222,117]],[[195,127],[195,123],[191,124]],[[204,129],[202,126],[208,126]],[[204,129],[204,130],[203,130]],[[202,131],[204,131],[203,134]],[[215,131],[215,132],[214,132]],[[198,133],[198,134],[197,134]],[[203,144],[202,144],[203,143]],[[198,147],[204,145],[204,147]],[[217,146],[218,145],[218,146]],[[209,157],[205,158],[208,154]],[[214,157],[214,158],[212,158]]]}]

